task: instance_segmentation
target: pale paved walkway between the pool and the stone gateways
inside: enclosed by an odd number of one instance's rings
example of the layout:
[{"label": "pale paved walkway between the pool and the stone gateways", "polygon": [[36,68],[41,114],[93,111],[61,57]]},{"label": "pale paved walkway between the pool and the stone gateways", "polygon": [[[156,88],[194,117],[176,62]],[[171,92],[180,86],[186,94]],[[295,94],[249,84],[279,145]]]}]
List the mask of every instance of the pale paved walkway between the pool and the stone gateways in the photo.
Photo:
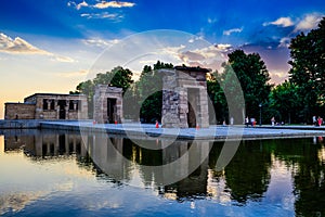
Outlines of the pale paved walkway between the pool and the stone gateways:
[{"label": "pale paved walkway between the pool and the stone gateways", "polygon": [[169,129],[155,128],[150,124],[93,124],[92,122],[43,122],[41,128],[80,130],[81,132],[105,132],[140,138],[178,138],[178,139],[259,139],[325,137],[325,127],[313,126],[210,126],[209,128]]}]

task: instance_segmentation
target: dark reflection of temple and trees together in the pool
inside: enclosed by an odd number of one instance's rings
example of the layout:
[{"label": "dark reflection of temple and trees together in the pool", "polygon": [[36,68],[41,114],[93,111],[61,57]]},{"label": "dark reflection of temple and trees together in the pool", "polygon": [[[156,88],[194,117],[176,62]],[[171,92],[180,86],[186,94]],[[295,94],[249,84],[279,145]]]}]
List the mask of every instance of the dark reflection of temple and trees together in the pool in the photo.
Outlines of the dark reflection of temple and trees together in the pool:
[{"label": "dark reflection of temple and trees together in the pool", "polygon": [[[139,140],[64,131],[9,130],[4,153],[23,149],[31,161],[75,156],[95,175],[120,184],[154,188],[169,200],[214,200],[239,205],[280,194],[296,214],[325,214],[323,138],[242,141],[235,156],[217,169],[222,142]],[[145,146],[155,145],[155,150]],[[164,149],[161,149],[164,148]],[[191,151],[190,151],[191,150]],[[100,176],[99,176],[100,177]],[[176,180],[168,182],[168,180]],[[287,181],[286,189],[276,186]]]}]

